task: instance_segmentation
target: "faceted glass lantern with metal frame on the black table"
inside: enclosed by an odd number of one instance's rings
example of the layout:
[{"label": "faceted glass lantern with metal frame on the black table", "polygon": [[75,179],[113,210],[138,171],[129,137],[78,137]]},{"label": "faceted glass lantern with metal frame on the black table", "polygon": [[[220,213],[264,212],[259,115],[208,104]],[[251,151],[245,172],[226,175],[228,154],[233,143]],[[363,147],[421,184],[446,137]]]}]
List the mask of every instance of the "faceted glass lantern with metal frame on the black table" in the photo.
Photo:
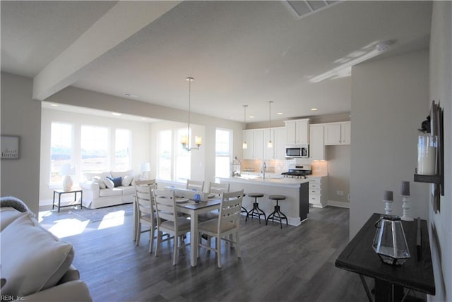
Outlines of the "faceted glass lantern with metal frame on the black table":
[{"label": "faceted glass lantern with metal frame on the black table", "polygon": [[400,217],[384,215],[376,222],[375,227],[372,247],[383,262],[390,265],[402,265],[410,258]]}]

